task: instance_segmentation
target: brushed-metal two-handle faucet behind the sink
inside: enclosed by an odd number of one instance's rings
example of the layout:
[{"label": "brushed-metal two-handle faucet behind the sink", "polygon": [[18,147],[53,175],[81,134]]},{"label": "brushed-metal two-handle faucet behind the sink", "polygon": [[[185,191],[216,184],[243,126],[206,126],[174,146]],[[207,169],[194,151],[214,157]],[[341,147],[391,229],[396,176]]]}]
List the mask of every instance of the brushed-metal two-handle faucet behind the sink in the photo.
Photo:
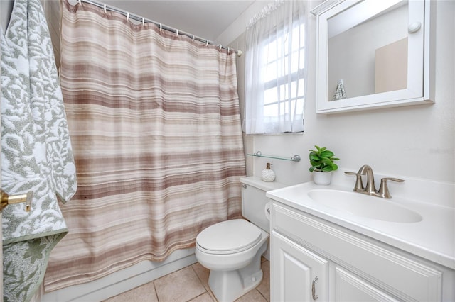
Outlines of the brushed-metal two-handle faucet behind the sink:
[{"label": "brushed-metal two-handle faucet behind the sink", "polygon": [[[368,166],[368,164],[364,164],[362,167],[360,167],[360,169],[358,170],[357,173],[345,172],[345,174],[355,175],[357,177],[355,180],[355,186],[354,186],[353,191],[362,193],[362,194],[368,194],[370,196],[380,197],[380,198],[392,198],[392,196],[390,195],[390,192],[389,192],[389,188],[387,187],[387,180],[397,181],[397,182],[404,181],[403,179],[384,177],[381,179],[381,184],[380,184],[379,190],[376,190],[373,169],[371,169],[371,167]],[[362,175],[367,176],[367,184],[365,187],[363,187]]]}]

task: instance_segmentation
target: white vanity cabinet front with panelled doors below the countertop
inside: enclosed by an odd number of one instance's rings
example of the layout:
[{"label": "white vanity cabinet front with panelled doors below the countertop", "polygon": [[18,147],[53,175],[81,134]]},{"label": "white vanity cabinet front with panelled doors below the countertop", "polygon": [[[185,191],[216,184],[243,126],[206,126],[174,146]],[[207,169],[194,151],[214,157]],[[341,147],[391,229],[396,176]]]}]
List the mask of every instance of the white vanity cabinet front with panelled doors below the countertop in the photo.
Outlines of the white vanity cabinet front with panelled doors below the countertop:
[{"label": "white vanity cabinet front with panelled doors below the countertop", "polygon": [[444,272],[425,259],[272,202],[272,301],[442,301],[443,284],[454,281],[449,272],[443,282]]}]

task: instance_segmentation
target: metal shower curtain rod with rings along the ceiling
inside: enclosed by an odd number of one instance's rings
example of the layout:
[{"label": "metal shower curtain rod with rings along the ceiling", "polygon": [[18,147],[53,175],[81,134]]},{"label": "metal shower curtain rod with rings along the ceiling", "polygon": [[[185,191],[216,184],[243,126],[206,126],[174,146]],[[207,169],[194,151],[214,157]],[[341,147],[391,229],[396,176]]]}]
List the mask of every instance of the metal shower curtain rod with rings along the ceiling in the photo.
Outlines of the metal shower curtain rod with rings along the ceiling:
[{"label": "metal shower curtain rod with rings along the ceiling", "polygon": [[116,13],[121,13],[122,15],[126,16],[127,19],[133,19],[135,21],[139,21],[141,23],[154,23],[156,26],[159,26],[160,30],[161,29],[164,29],[164,30],[167,30],[167,31],[170,31],[171,33],[175,33],[176,35],[185,35],[186,37],[189,37],[191,38],[192,40],[198,40],[199,42],[202,42],[202,43],[205,43],[205,45],[217,45],[217,46],[220,46],[220,50],[221,49],[225,49],[225,50],[228,50],[228,51],[233,51],[237,54],[238,57],[240,57],[242,55],[242,50],[234,50],[234,49],[231,49],[230,47],[223,47],[223,45],[220,45],[220,44],[216,44],[208,39],[203,39],[203,38],[200,38],[196,35],[191,35],[190,33],[186,33],[184,31],[181,31],[181,30],[178,30],[176,28],[171,28],[170,26],[166,26],[162,23],[159,23],[159,22],[156,22],[156,21],[153,21],[153,20],[150,20],[148,18],[144,18],[144,17],[141,17],[141,16],[137,16],[137,15],[134,15],[132,13],[129,13],[128,11],[124,11],[123,9],[118,9],[117,7],[114,7],[114,6],[108,6],[107,4],[100,4],[100,3],[97,3],[95,1],[92,1],[92,0],[76,0],[77,3],[79,3],[80,5],[82,5],[82,2],[86,2],[88,4],[92,4],[92,5],[95,5],[101,9],[105,9],[105,11],[107,9],[109,9],[109,11],[115,11]]}]

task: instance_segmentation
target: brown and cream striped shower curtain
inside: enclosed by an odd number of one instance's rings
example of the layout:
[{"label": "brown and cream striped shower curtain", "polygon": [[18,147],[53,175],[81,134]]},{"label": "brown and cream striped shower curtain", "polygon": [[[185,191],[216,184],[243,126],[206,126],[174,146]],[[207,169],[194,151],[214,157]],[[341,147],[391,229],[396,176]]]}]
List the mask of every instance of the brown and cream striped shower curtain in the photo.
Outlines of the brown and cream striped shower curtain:
[{"label": "brown and cream striped shower curtain", "polygon": [[240,217],[232,51],[64,0],[60,82],[78,186],[45,291],[164,260]]}]

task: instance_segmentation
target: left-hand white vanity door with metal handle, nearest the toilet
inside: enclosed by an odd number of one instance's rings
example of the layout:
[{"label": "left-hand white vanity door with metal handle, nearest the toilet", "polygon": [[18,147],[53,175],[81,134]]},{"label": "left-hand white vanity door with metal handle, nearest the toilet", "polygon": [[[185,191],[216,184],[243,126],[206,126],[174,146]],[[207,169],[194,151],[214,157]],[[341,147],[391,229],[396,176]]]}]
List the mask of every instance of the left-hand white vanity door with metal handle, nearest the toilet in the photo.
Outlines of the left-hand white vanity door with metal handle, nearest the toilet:
[{"label": "left-hand white vanity door with metal handle, nearest the toilet", "polygon": [[328,301],[328,261],[275,231],[270,237],[272,301]]}]

